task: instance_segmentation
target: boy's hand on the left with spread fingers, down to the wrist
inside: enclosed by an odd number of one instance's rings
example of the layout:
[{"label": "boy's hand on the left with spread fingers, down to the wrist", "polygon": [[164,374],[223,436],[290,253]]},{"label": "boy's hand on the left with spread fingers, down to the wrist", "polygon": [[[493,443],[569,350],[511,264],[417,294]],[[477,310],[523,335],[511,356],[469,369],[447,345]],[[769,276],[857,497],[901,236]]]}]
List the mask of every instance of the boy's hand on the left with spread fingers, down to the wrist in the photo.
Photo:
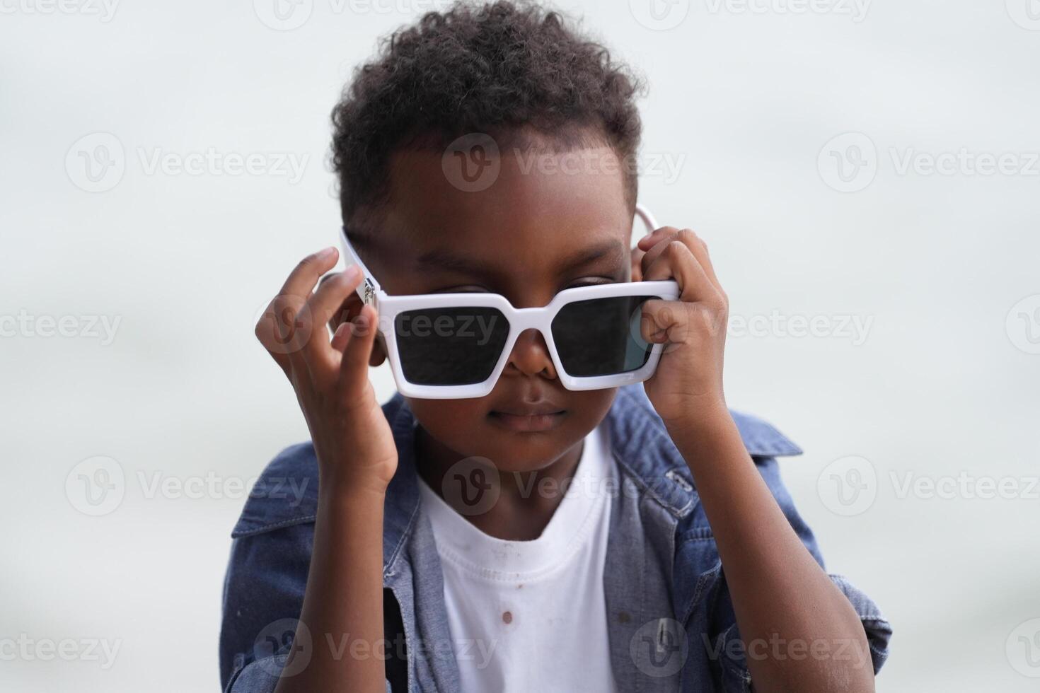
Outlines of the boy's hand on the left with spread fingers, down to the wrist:
[{"label": "boy's hand on the left with spread fingers, down to the wrist", "polygon": [[[330,247],[301,261],[257,322],[256,336],[296,392],[317,453],[320,492],[384,494],[397,469],[397,448],[368,381],[375,309],[354,293],[361,283],[356,266],[314,291],[338,258]],[[344,303],[356,315],[330,340],[326,325]]]}]

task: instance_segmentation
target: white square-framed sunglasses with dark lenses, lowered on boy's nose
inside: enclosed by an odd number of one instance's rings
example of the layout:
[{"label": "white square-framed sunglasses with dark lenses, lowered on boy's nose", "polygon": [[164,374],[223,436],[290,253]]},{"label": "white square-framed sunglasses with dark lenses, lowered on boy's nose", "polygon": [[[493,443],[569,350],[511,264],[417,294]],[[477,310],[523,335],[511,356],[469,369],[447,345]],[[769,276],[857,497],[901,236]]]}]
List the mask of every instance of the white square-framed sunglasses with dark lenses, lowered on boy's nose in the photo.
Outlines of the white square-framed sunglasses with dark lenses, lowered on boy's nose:
[{"label": "white square-framed sunglasses with dark lenses, lowered on boy's nose", "polygon": [[[636,205],[649,232],[653,216]],[[648,232],[648,233],[649,233]],[[568,390],[600,390],[653,375],[662,344],[641,336],[642,306],[675,300],[674,281],[623,282],[565,289],[543,308],[514,308],[500,294],[390,296],[340,231],[343,260],[362,272],[358,295],[375,306],[397,390],[406,397],[459,399],[491,393],[525,329],[542,332]]]}]

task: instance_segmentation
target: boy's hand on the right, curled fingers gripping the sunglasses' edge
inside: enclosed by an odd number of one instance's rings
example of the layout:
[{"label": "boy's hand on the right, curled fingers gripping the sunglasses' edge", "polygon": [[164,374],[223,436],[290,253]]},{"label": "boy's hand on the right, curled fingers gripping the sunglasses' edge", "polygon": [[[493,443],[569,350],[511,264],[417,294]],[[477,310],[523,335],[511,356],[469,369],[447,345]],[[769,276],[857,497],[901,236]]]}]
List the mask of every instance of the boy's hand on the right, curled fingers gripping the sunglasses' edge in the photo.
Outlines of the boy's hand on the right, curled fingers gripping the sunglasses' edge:
[{"label": "boy's hand on the right, curled fingers gripping the sunglasses' edge", "polygon": [[644,383],[647,397],[670,426],[728,417],[722,370],[729,299],[707,245],[688,229],[661,226],[641,239],[638,249],[645,255],[633,281],[679,285],[678,300],[649,300],[643,306],[643,338],[665,344],[657,370]]}]

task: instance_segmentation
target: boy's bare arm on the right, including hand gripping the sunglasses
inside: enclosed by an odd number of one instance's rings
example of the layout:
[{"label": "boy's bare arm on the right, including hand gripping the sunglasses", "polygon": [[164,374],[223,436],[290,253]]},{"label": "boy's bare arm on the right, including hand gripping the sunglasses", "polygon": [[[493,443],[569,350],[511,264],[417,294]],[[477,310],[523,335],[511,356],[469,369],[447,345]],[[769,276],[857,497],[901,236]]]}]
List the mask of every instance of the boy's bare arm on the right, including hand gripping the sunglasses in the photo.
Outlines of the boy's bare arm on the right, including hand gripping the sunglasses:
[{"label": "boy's bare arm on the right, including hand gripping the sunglasses", "polygon": [[681,288],[679,300],[644,308],[644,337],[667,344],[645,388],[697,483],[755,691],[873,691],[859,617],[791,529],[726,407],[728,302],[706,245],[666,226],[639,247],[643,278]]}]

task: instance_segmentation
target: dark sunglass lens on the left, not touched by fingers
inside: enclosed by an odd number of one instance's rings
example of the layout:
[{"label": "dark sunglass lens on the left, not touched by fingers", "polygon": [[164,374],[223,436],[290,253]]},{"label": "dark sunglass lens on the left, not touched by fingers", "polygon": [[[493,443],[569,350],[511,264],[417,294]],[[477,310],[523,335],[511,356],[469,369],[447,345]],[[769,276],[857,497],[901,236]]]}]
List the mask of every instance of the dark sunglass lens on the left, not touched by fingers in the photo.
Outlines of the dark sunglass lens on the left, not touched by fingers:
[{"label": "dark sunglass lens on the left, not touched by fingers", "polygon": [[510,324],[494,308],[430,308],[398,313],[394,330],[409,382],[468,385],[491,376]]}]

